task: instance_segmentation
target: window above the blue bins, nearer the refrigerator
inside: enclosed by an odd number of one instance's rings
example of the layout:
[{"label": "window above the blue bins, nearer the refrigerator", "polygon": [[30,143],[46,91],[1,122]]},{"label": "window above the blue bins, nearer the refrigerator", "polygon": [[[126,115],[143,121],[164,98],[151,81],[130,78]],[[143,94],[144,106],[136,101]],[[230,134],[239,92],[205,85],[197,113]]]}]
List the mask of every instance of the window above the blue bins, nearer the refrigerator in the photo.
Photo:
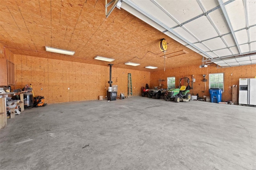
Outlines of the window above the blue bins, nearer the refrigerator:
[{"label": "window above the blue bins, nearer the refrigerator", "polygon": [[209,87],[220,88],[224,92],[224,73],[209,74]]}]

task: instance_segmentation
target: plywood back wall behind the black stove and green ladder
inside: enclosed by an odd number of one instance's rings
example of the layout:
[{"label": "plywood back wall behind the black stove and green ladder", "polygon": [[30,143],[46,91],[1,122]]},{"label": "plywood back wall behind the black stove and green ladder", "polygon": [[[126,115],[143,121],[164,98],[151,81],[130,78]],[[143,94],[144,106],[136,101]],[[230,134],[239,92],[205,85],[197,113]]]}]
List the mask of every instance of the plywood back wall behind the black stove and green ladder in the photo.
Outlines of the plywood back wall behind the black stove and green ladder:
[{"label": "plywood back wall behind the black stove and green ladder", "polygon": [[[99,61],[100,62],[100,61]],[[97,100],[106,96],[110,67],[14,54],[16,88],[32,84],[35,96],[44,96],[45,103]],[[118,94],[128,95],[128,73],[132,75],[133,96],[150,81],[150,73],[112,66],[112,85]],[[41,90],[42,88],[42,90]],[[68,90],[68,88],[70,88]]]}]

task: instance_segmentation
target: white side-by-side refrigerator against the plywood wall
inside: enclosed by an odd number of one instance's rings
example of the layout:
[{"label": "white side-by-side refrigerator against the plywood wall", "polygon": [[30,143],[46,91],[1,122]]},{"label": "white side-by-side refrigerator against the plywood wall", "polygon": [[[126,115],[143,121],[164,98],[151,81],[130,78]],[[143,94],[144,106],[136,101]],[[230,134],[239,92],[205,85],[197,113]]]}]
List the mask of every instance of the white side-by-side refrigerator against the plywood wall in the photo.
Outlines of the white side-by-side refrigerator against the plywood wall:
[{"label": "white side-by-side refrigerator against the plywood wall", "polygon": [[256,79],[239,79],[239,105],[256,105]]}]

